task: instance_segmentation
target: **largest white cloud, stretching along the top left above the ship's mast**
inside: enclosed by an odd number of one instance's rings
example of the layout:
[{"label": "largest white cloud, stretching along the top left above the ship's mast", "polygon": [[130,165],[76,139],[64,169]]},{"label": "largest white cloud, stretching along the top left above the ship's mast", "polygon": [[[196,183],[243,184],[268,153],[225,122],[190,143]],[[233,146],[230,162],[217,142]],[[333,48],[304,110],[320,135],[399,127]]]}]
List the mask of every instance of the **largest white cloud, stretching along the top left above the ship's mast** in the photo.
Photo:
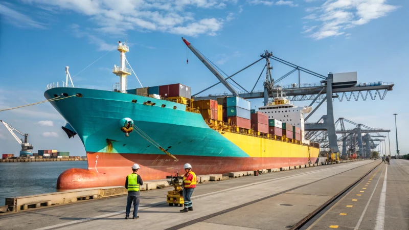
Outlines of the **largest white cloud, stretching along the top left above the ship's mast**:
[{"label": "largest white cloud, stretching along the top left above the ship's mast", "polygon": [[[195,18],[191,9],[224,9],[237,0],[21,0],[39,8],[58,12],[74,11],[85,15],[95,23],[92,30],[99,33],[123,35],[129,30],[142,32],[160,31],[188,36],[215,35],[222,29],[224,19],[215,17]],[[230,17],[231,18],[231,17]],[[217,22],[217,23],[216,23]],[[87,37],[100,50],[110,45],[98,39],[92,31],[83,29],[80,37]],[[89,32],[88,32],[89,31]],[[85,34],[84,34],[85,33]]]}]

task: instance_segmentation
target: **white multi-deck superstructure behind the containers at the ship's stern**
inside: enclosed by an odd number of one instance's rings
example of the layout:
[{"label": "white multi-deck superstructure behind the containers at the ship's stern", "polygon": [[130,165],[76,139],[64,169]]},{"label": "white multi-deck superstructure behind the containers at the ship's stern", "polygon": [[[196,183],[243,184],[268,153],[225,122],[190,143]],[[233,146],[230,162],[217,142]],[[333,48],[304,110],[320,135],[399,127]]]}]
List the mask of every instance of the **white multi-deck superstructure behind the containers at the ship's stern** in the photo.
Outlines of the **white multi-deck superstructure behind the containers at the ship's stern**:
[{"label": "white multi-deck superstructure behind the containers at the ship's stern", "polygon": [[301,140],[305,141],[304,131],[304,113],[311,111],[311,107],[297,107],[290,104],[290,101],[285,97],[276,97],[274,102],[270,102],[265,106],[259,107],[259,111],[267,114],[268,119],[276,119],[281,122],[297,126],[301,129]]}]

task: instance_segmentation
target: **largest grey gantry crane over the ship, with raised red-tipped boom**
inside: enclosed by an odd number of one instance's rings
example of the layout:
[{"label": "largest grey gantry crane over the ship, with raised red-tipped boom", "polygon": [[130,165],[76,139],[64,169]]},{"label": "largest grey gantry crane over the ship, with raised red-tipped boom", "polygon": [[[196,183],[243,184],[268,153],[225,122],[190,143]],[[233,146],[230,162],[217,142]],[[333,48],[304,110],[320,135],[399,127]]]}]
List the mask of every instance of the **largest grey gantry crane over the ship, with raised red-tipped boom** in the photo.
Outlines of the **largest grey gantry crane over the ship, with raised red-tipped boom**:
[{"label": "largest grey gantry crane over the ship, with raised red-tipped boom", "polygon": [[[313,71],[310,71],[307,68],[301,67],[299,65],[296,65],[286,60],[283,60],[281,58],[278,58],[277,56],[274,56],[272,52],[268,52],[268,51],[264,51],[264,53],[260,55],[260,59],[256,60],[255,62],[247,65],[246,67],[242,68],[241,70],[229,76],[226,73],[224,73],[219,67],[217,67],[211,60],[209,60],[207,57],[201,54],[196,48],[194,48],[193,45],[190,42],[188,42],[185,38],[182,38],[182,39],[187,45],[187,47],[199,58],[200,61],[203,62],[203,64],[206,65],[206,67],[209,68],[209,70],[219,80],[219,82],[211,85],[210,87],[207,87],[206,89],[199,91],[199,93],[194,94],[193,97],[199,98],[199,100],[207,100],[207,99],[216,100],[217,98],[220,98],[220,97],[230,97],[230,96],[239,96],[245,99],[264,98],[264,105],[266,105],[268,103],[269,98],[274,98],[276,95],[278,95],[278,93],[283,92],[290,101],[311,101],[309,106],[312,106],[314,103],[318,103],[315,106],[315,108],[304,119],[305,121],[307,121],[311,117],[311,115],[324,102],[326,102],[327,114],[324,114],[319,120],[319,122],[305,123],[305,130],[306,131],[308,130],[324,131],[325,130],[325,133],[326,133],[325,139],[327,140],[326,142],[328,143],[328,148],[333,153],[339,152],[338,143],[337,143],[338,137],[335,132],[334,111],[333,111],[333,106],[332,106],[332,102],[334,98],[338,98],[339,101],[343,101],[344,99],[346,99],[347,101],[350,101],[351,98],[353,97],[355,101],[358,101],[359,98],[361,98],[363,101],[366,101],[368,98],[368,95],[370,95],[370,98],[372,100],[375,100],[378,96],[379,96],[379,99],[383,100],[384,97],[387,95],[388,91],[393,90],[393,86],[394,86],[393,82],[378,81],[378,82],[371,82],[371,83],[357,83],[356,80],[355,82],[352,82],[352,84],[349,84],[351,82],[346,81],[344,83],[348,83],[348,84],[343,84],[342,86],[340,86],[338,80],[341,77],[341,75],[342,75],[341,78],[344,78],[346,74],[351,74],[351,73],[332,74],[331,72],[329,72],[327,76],[324,76],[324,75],[315,73]],[[245,89],[244,87],[242,87],[240,84],[238,84],[236,81],[233,80],[232,77],[236,76],[238,73],[246,70],[248,67],[256,64],[262,59],[265,59],[266,63],[259,77],[257,78],[257,81],[254,84],[254,87],[252,90]],[[275,81],[271,75],[272,64],[270,63],[270,61],[273,61],[273,60],[280,62],[282,64],[285,64],[287,66],[290,66],[293,69]],[[266,71],[266,75],[265,75],[266,77],[263,83],[264,90],[255,91],[254,88],[259,82],[260,77],[264,73],[264,70]],[[281,80],[288,77],[294,72],[298,72],[298,84],[293,83],[291,85],[285,85],[285,86],[277,84],[277,83],[280,83]],[[300,72],[309,74],[311,76],[320,78],[322,80],[320,83],[301,84]],[[223,77],[221,73],[223,73],[225,77]],[[355,73],[355,78],[356,78],[356,72],[352,72],[352,73]],[[335,76],[336,76],[336,79],[338,79],[337,82],[335,82],[336,80]],[[232,82],[229,83],[228,80],[231,80]],[[237,86],[235,86],[233,82]],[[224,94],[208,95],[208,96],[202,96],[202,97],[197,96],[219,83],[222,83],[226,88],[228,88],[231,94],[224,93]],[[240,90],[244,90],[244,91],[238,92],[232,86],[235,86],[236,88]]]}]

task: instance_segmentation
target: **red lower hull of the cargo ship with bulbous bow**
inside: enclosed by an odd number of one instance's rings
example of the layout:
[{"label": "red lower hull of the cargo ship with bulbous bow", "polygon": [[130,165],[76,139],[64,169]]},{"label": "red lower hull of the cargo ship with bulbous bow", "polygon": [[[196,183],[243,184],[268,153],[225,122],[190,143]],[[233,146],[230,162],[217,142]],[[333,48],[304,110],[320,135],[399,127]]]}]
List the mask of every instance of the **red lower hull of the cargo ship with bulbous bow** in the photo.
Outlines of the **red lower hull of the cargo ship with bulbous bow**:
[{"label": "red lower hull of the cargo ship with bulbous bow", "polygon": [[[71,190],[107,186],[124,186],[135,163],[141,167],[138,174],[143,180],[165,179],[176,173],[184,174],[183,165],[192,165],[196,175],[224,174],[308,164],[308,157],[211,157],[176,155],[174,162],[168,155],[87,153],[88,170],[68,169],[57,179],[57,189]],[[315,158],[311,157],[314,163]]]}]

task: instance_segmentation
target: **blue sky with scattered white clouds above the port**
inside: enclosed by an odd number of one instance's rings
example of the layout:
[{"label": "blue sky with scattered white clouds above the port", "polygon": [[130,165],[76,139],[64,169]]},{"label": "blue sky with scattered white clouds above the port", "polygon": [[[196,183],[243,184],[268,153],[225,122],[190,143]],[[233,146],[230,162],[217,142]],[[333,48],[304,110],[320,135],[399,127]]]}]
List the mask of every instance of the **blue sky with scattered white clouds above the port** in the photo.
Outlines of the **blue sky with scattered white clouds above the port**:
[{"label": "blue sky with scattered white clouds above the port", "polygon": [[[119,81],[111,73],[119,64],[115,48],[125,39],[127,60],[143,86],[181,83],[197,93],[218,80],[187,51],[183,36],[228,75],[268,50],[324,76],[356,71],[358,82],[394,82],[384,100],[335,99],[334,118],[390,129],[394,155],[393,113],[398,113],[399,149],[406,154],[408,8],[403,0],[6,0],[0,2],[0,109],[43,101],[47,84],[65,81],[65,66],[70,66],[75,85],[111,90]],[[234,79],[251,89],[263,66],[259,62]],[[272,66],[275,79],[292,69],[275,61]],[[301,74],[301,83],[320,80]],[[296,72],[276,83],[297,82]],[[136,87],[140,85],[132,74],[128,88]],[[259,81],[255,89],[262,88]],[[225,91],[219,84],[201,95]],[[262,101],[251,100],[252,107],[262,106]],[[325,112],[323,105],[309,122]],[[49,103],[0,112],[0,120],[29,133],[33,152],[58,149],[85,155],[78,136],[68,139],[62,131],[65,121]],[[19,150],[0,126],[0,153]]]}]

